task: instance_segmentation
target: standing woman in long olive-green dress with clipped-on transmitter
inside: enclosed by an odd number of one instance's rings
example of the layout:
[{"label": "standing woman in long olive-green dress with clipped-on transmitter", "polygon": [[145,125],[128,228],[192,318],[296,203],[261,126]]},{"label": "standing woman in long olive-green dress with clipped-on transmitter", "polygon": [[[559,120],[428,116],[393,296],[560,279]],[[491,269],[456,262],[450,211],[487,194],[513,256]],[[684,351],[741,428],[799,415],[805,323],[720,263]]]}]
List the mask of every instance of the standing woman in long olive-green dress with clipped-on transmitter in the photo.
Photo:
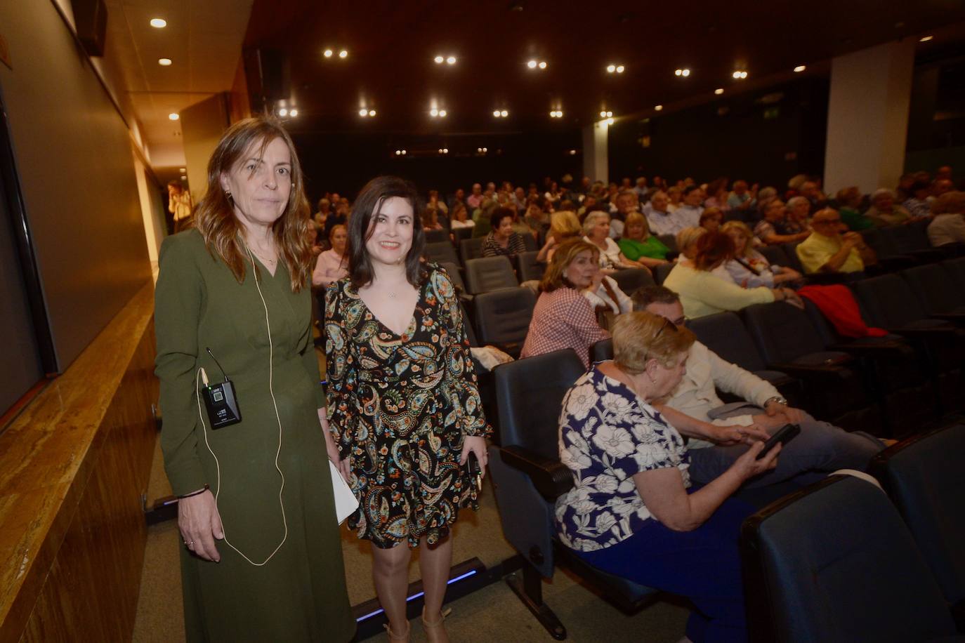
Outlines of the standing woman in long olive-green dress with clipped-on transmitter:
[{"label": "standing woman in long olive-green dress with clipped-on transmitter", "polygon": [[[355,623],[326,462],[338,451],[311,332],[298,158],[277,121],[248,119],[207,176],[196,228],[161,247],[155,290],[187,640],[346,641]],[[240,421],[215,429],[199,389],[226,379]]]}]

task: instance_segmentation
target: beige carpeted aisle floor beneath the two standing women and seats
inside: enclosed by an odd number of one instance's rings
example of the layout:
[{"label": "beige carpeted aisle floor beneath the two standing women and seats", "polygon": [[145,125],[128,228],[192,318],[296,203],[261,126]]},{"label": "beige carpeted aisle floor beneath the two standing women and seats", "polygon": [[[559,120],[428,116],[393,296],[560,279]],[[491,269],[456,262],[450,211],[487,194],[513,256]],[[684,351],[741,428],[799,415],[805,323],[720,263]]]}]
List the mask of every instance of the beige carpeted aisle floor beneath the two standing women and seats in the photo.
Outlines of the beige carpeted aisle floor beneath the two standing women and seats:
[{"label": "beige carpeted aisle floor beneath the two standing women and seats", "polygon": [[[321,358],[319,357],[319,362]],[[322,364],[323,368],[323,364]],[[324,372],[324,370],[322,370]],[[148,500],[171,494],[160,447],[155,448]],[[486,567],[510,558],[515,551],[503,538],[499,514],[488,480],[479,513],[464,511],[454,529],[454,563],[478,557]],[[181,615],[179,533],[175,521],[153,525],[148,530],[141,592],[134,641],[167,642],[184,640]],[[349,601],[355,605],[375,596],[369,545],[343,527],[342,549]],[[410,580],[419,577],[418,552],[409,568]],[[575,577],[558,569],[552,581],[543,583],[543,597],[568,630],[570,641],[652,641],[679,640],[684,633],[687,609],[677,604],[658,602],[628,616],[597,597]],[[554,640],[529,610],[520,603],[505,582],[449,603],[453,613],[447,630],[454,641],[552,641]],[[412,640],[424,641],[418,619],[412,624]],[[385,634],[370,640],[387,640]]]}]

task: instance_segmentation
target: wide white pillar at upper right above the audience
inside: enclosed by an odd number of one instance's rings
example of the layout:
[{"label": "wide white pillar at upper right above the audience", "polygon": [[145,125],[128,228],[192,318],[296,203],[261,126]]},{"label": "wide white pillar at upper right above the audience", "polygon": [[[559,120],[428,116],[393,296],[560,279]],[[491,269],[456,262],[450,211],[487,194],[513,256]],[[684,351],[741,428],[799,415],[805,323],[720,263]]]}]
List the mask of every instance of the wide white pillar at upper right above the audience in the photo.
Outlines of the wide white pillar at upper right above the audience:
[{"label": "wide white pillar at upper right above the audience", "polygon": [[904,168],[915,39],[888,42],[831,62],[824,188],[894,188]]}]

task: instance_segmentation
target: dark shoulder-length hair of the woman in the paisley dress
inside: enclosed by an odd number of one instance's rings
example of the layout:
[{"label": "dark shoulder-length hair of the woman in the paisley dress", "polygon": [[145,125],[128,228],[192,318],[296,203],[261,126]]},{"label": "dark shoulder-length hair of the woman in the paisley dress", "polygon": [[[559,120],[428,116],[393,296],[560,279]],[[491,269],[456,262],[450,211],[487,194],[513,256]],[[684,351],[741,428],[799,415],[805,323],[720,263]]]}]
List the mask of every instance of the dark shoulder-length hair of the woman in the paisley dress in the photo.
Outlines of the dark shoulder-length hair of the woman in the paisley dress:
[{"label": "dark shoulder-length hair of the woman in the paisley dress", "polygon": [[404,199],[412,206],[412,247],[405,255],[405,279],[416,287],[427,279],[422,261],[426,250],[426,232],[422,217],[417,214],[423,211],[419,191],[410,181],[399,176],[376,176],[362,188],[348,217],[348,275],[356,288],[372,282],[372,259],[366,250],[366,243],[374,232],[372,220],[381,212],[382,204],[394,197]]}]

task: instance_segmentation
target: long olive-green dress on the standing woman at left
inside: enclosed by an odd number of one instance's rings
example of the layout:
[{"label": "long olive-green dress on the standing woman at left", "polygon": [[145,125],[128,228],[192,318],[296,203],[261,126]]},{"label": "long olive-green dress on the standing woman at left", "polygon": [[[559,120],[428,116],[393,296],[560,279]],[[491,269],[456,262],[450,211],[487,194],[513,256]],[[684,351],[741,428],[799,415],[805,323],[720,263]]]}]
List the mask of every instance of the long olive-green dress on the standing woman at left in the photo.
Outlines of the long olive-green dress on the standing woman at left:
[{"label": "long olive-green dress on the standing woman at left", "polygon": [[[294,294],[279,262],[274,277],[261,264],[262,295],[247,262],[238,283],[228,266],[208,254],[201,233],[164,241],[155,289],[157,359],[164,428],[161,447],[174,493],[210,485],[227,539],[256,563],[285,538],[262,567],[217,541],[221,562],[181,547],[184,625],[188,641],[346,641],[355,631],[345,592],[342,545],[317,409],[324,405],[311,332],[311,288]],[[241,422],[210,430],[199,414],[196,374],[234,382]],[[279,430],[269,392],[282,425]],[[202,404],[204,410],[204,404]],[[200,415],[204,416],[203,428]],[[286,522],[288,535],[285,535]]]}]

